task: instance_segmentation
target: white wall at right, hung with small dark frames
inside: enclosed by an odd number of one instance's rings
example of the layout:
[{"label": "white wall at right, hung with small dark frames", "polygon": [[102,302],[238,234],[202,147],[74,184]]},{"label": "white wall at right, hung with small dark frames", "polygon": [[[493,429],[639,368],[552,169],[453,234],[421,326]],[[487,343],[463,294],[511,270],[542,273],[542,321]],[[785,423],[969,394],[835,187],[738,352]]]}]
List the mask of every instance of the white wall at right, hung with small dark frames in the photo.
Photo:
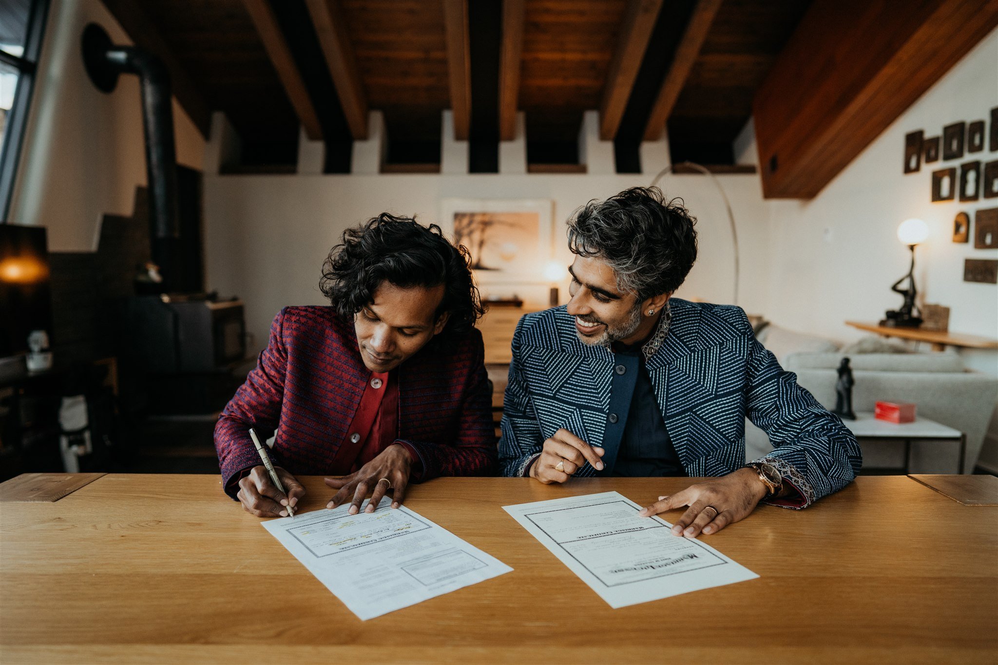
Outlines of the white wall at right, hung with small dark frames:
[{"label": "white wall at right, hung with small dark frames", "polygon": [[[998,30],[952,70],[809,201],[769,201],[771,282],[768,317],[795,330],[852,340],[862,333],[845,320],[876,321],[901,305],[890,285],[908,271],[909,253],[896,235],[908,217],[928,222],[929,239],[917,248],[915,277],[923,302],[950,308],[954,332],[998,336],[998,287],[963,281],[967,257],[998,258],[998,250],[952,242],[953,217],[960,210],[998,206],[996,198],[959,203],[930,201],[932,171],[998,153],[922,165],[904,174],[904,135],[924,130],[939,136],[958,121],[989,122],[998,106]],[[986,142],[985,142],[986,143]],[[973,222],[971,230],[973,230]],[[826,230],[827,229],[827,230]],[[967,351],[966,364],[998,375],[998,353]],[[998,396],[996,396],[998,399]],[[981,461],[998,470],[998,416]]]}]

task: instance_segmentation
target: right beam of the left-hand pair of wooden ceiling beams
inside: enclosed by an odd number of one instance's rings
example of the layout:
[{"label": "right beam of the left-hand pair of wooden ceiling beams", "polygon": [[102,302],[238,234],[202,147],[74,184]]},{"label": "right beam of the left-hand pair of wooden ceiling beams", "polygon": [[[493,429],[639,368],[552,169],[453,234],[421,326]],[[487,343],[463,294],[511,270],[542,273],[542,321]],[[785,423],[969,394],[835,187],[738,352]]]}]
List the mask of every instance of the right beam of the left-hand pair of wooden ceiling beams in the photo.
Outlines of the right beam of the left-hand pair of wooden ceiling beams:
[{"label": "right beam of the left-hand pair of wooden ceiling beams", "polygon": [[353,45],[338,0],[305,0],[339,105],[357,141],[367,139],[367,96],[353,57]]}]

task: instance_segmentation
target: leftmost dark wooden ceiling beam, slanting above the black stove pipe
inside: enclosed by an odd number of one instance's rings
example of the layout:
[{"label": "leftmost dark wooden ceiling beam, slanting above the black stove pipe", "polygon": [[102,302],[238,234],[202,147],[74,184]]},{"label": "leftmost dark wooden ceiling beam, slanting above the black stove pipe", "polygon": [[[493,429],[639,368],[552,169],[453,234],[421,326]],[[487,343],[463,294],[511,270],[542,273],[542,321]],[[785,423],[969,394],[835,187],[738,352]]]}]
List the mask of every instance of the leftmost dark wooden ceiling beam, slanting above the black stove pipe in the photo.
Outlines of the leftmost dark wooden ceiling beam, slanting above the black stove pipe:
[{"label": "leftmost dark wooden ceiling beam, slanting above the black stove pipe", "polygon": [[155,54],[167,66],[174,97],[190,116],[201,136],[207,139],[212,125],[212,110],[181,65],[180,59],[160,36],[153,21],[136,0],[104,0],[104,6],[136,46]]}]

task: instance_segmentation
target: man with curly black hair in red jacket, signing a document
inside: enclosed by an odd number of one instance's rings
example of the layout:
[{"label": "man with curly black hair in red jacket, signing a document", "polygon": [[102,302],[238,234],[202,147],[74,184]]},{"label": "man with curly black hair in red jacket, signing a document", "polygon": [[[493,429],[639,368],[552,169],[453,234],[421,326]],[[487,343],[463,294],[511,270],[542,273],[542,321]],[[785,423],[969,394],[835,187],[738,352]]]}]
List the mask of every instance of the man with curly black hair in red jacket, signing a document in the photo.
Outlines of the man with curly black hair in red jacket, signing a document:
[{"label": "man with curly black hair in red jacket, signing a document", "polygon": [[[383,213],[343,232],[322,266],[330,306],[285,307],[256,368],[215,429],[226,492],[260,517],[286,515],[328,475],[326,507],[366,511],[410,482],[496,468],[482,305],[467,250],[436,224]],[[275,434],[270,482],[249,430]]]}]

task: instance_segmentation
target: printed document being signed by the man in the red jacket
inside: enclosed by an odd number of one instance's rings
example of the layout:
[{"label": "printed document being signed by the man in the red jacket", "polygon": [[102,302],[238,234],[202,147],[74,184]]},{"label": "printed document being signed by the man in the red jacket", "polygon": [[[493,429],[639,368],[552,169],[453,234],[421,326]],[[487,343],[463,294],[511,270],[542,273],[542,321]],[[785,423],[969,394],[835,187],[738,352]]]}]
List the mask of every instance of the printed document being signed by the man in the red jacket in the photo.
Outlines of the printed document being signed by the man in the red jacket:
[{"label": "printed document being signed by the man in the red jacket", "polygon": [[511,567],[385,497],[374,512],[350,504],[262,522],[361,619],[509,572]]}]

